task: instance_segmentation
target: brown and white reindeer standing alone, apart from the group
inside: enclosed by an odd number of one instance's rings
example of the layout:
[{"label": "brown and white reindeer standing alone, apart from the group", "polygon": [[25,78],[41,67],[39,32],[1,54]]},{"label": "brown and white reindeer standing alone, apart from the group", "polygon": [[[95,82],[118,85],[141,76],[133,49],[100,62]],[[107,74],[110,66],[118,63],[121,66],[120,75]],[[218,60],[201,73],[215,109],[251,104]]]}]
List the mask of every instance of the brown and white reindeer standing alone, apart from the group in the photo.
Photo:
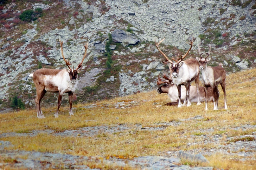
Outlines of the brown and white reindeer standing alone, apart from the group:
[{"label": "brown and white reindeer standing alone, apart from the group", "polygon": [[59,42],[60,42],[60,50],[62,53],[62,57],[66,63],[66,66],[68,66],[68,68],[62,69],[62,70],[42,68],[42,69],[36,70],[34,73],[29,75],[30,77],[33,77],[33,81],[36,86],[37,96],[36,96],[35,102],[36,102],[38,118],[45,118],[41,110],[40,102],[44,97],[46,91],[59,93],[58,108],[57,108],[57,112],[54,114],[55,117],[58,117],[62,95],[64,93],[69,94],[69,106],[70,106],[69,115],[73,115],[72,96],[75,89],[77,88],[77,84],[78,84],[77,75],[81,71],[82,64],[88,49],[88,43],[85,43],[84,45],[85,52],[84,52],[84,56],[81,63],[78,64],[78,67],[76,69],[74,69],[74,67],[73,69],[71,69],[70,61],[68,59],[66,60],[63,55],[63,48],[62,48],[63,42],[61,42],[60,40]]}]

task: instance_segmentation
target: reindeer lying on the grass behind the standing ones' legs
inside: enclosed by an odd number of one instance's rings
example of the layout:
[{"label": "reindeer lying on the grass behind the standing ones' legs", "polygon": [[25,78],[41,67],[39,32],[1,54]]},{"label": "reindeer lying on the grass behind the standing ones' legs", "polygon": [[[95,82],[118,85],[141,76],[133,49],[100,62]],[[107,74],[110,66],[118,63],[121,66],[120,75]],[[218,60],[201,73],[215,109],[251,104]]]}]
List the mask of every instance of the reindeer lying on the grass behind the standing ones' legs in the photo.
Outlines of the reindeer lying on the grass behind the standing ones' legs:
[{"label": "reindeer lying on the grass behind the standing ones' legs", "polygon": [[[161,79],[158,75],[157,85],[160,86],[157,89],[157,92],[159,94],[161,93],[167,93],[168,97],[171,100],[171,103],[167,103],[165,105],[177,105],[179,101],[178,97],[178,89],[177,86],[172,82],[171,78],[166,77],[166,75],[163,76],[166,80]],[[161,86],[162,85],[162,86]],[[208,101],[213,101],[213,88],[208,88]],[[196,86],[190,86],[190,95],[189,95],[190,101],[193,103],[196,103],[198,101],[197,97],[197,87]],[[186,100],[186,87],[181,86],[181,101],[184,102]],[[205,101],[205,93],[204,93],[204,87],[199,87],[199,100],[200,102]]]}]

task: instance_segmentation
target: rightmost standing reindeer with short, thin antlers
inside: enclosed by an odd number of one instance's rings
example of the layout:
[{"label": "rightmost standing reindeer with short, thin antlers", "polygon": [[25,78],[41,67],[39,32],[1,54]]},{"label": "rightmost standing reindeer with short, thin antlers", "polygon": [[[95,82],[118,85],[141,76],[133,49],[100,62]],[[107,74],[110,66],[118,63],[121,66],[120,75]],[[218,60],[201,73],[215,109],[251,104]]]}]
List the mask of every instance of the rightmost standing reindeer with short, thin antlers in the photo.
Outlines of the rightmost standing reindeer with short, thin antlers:
[{"label": "rightmost standing reindeer with short, thin antlers", "polygon": [[225,109],[228,109],[226,104],[226,71],[222,66],[222,63],[219,64],[219,66],[216,67],[207,67],[207,62],[211,60],[211,58],[208,58],[211,53],[211,45],[208,45],[209,51],[205,57],[202,57],[201,51],[200,51],[200,45],[198,45],[198,52],[200,55],[199,57],[196,57],[198,62],[200,63],[199,69],[202,72],[202,84],[204,86],[204,92],[205,92],[205,110],[208,110],[207,108],[207,88],[211,87],[213,88],[213,110],[218,110],[218,100],[219,100],[219,90],[218,90],[218,84],[222,87],[223,93],[224,93],[224,101],[225,101]]}]

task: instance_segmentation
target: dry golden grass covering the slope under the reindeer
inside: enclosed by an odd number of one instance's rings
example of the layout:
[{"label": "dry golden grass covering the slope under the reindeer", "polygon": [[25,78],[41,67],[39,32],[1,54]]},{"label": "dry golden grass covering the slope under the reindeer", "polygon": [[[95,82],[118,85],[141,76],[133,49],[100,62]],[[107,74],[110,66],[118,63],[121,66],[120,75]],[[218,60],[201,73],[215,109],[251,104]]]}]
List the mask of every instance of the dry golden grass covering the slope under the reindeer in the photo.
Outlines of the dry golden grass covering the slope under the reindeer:
[{"label": "dry golden grass covering the slope under the reindeer", "polygon": [[[164,155],[166,151],[199,150],[217,148],[217,144],[204,144],[201,135],[222,135],[225,144],[227,137],[251,134],[256,129],[233,130],[232,127],[242,125],[256,125],[256,69],[230,74],[226,78],[228,110],[224,110],[224,97],[219,87],[219,110],[213,111],[213,103],[208,104],[205,111],[205,103],[197,106],[177,108],[177,106],[162,106],[169,102],[167,95],[157,94],[156,90],[117,97],[113,100],[105,100],[96,103],[97,107],[84,108],[77,104],[74,107],[74,116],[68,115],[68,106],[60,108],[59,117],[53,115],[56,107],[43,108],[46,118],[38,119],[36,110],[23,110],[0,115],[0,132],[28,133],[33,130],[54,130],[60,132],[70,129],[78,129],[90,126],[115,126],[125,124],[128,130],[109,134],[99,131],[92,137],[63,137],[53,134],[40,133],[34,137],[1,137],[0,140],[10,141],[14,147],[28,151],[49,151],[85,156],[145,156]],[[136,101],[126,109],[116,108],[117,102]],[[196,115],[202,116],[202,120],[190,120]],[[177,126],[168,126],[165,130],[138,130],[141,127],[158,127],[158,123],[181,122]],[[214,131],[206,131],[213,128]],[[223,130],[224,129],[224,130]],[[193,137],[191,137],[191,135]],[[196,142],[195,145],[187,145]],[[255,151],[254,151],[255,152]],[[210,165],[214,168],[224,169],[256,169],[256,162],[237,161],[238,158],[216,154],[208,156]]]}]

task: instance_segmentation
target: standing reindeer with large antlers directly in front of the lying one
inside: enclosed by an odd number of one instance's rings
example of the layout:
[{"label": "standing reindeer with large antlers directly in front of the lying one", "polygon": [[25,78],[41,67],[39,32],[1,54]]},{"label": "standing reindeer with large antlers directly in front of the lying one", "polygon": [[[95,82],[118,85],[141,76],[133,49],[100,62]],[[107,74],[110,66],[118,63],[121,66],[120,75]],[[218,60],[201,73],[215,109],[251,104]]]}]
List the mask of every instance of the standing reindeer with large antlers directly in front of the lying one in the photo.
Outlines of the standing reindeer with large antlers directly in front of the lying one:
[{"label": "standing reindeer with large antlers directly in front of the lying one", "polygon": [[[190,97],[189,97],[189,91],[190,91],[190,84],[194,81],[196,83],[197,87],[197,105],[200,105],[200,96],[199,96],[199,63],[196,59],[187,59],[183,61],[183,59],[187,56],[188,52],[190,52],[192,46],[193,46],[193,37],[192,40],[190,40],[190,49],[181,56],[178,54],[177,60],[175,60],[172,57],[172,62],[168,57],[159,49],[159,44],[164,41],[162,39],[160,42],[156,43],[156,48],[159,50],[159,52],[165,57],[164,63],[170,63],[168,66],[172,73],[172,80],[173,83],[176,84],[178,89],[178,97],[179,97],[179,104],[178,107],[185,106],[187,101],[187,106],[191,106]],[[180,58],[179,58],[180,56]],[[184,100],[183,105],[181,104],[181,85],[184,85],[186,87],[186,98]]]}]

